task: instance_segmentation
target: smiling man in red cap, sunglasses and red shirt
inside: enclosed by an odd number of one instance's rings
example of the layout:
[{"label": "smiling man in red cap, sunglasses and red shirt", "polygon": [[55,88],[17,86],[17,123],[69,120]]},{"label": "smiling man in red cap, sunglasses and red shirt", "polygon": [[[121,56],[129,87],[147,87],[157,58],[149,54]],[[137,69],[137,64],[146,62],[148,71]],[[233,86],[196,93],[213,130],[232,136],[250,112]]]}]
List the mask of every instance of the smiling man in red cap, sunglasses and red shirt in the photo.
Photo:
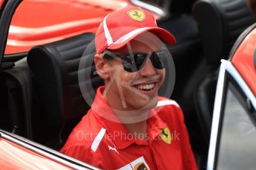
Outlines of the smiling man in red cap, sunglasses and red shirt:
[{"label": "smiling man in red cap, sunglasses and red shirt", "polygon": [[175,42],[140,7],[108,14],[94,59],[105,86],[61,152],[101,169],[197,169],[180,106],[158,96]]}]

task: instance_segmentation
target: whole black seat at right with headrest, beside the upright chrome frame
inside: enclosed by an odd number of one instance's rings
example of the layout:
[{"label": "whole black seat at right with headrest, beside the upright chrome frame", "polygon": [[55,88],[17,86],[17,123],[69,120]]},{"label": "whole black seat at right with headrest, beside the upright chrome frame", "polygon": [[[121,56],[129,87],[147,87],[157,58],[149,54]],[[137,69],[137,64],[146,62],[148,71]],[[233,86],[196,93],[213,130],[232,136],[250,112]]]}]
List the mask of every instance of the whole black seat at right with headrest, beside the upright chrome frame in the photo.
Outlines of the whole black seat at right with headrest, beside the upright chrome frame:
[{"label": "whole black seat at right with headrest, beside the upright chrome frame", "polygon": [[220,59],[227,59],[234,41],[255,22],[246,0],[199,0],[193,6],[193,16],[203,46],[208,68],[195,89],[195,106],[200,126],[209,146],[211,118]]}]

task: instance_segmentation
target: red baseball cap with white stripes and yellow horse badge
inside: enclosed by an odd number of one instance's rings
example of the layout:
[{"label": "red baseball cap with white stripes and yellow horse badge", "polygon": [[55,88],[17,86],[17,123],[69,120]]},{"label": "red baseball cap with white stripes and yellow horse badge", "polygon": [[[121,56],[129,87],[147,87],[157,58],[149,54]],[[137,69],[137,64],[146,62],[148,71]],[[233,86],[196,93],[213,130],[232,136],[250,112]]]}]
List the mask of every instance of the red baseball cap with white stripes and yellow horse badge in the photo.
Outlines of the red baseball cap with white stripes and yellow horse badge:
[{"label": "red baseball cap with white stripes and yellow horse badge", "polygon": [[140,7],[124,7],[105,16],[95,35],[96,53],[123,47],[137,35],[149,31],[165,44],[175,44],[171,33],[157,26],[154,15]]}]

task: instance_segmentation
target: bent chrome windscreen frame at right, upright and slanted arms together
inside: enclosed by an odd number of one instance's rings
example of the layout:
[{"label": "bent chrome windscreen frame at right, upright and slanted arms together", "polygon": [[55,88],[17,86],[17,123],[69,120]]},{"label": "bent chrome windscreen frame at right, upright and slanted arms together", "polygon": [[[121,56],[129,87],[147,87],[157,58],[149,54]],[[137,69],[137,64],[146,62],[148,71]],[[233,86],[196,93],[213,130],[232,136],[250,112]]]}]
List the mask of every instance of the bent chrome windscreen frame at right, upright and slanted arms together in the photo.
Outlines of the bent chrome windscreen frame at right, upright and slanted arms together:
[{"label": "bent chrome windscreen frame at right, upright and slanted arms together", "polygon": [[219,77],[217,81],[217,89],[214,102],[214,113],[211,124],[211,140],[207,163],[208,170],[217,169],[217,151],[220,145],[220,132],[222,128],[223,111],[226,101],[226,89],[227,83],[231,79],[235,84],[237,84],[236,86],[239,86],[241,92],[243,92],[246,98],[248,98],[252,108],[254,110],[256,109],[256,98],[255,95],[252,93],[252,90],[249,89],[249,86],[243,80],[239,72],[237,72],[237,69],[235,69],[232,63],[230,61],[222,60],[222,64],[220,65]]}]

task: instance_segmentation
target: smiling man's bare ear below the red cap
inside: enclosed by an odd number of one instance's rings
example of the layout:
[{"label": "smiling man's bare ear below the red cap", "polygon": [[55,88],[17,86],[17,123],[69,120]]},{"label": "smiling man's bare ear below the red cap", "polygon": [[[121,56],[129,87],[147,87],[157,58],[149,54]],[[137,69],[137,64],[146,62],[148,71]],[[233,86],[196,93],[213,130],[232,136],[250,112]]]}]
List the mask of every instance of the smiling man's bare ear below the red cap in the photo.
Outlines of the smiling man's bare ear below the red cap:
[{"label": "smiling man's bare ear below the red cap", "polygon": [[102,58],[100,55],[96,54],[94,58],[94,63],[98,75],[104,80],[109,78],[109,72],[106,71],[108,70],[108,64],[105,59]]}]

